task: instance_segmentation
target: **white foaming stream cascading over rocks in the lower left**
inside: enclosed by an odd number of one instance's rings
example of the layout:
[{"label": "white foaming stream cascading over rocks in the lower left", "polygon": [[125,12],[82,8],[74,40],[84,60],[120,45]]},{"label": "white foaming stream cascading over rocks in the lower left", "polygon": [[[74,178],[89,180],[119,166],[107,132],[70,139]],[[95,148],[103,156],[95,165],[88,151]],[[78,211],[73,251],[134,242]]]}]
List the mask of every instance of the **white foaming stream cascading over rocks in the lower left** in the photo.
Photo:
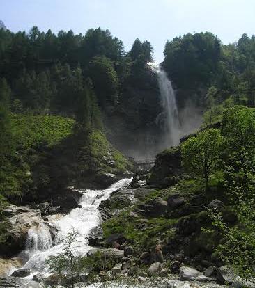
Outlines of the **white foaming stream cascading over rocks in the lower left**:
[{"label": "white foaming stream cascading over rocks in the lower left", "polygon": [[67,215],[56,214],[49,219],[57,232],[52,243],[49,227],[44,223],[35,224],[28,232],[26,249],[21,253],[27,262],[24,268],[31,269],[32,275],[40,272],[49,275],[46,260],[49,256],[58,255],[68,232],[78,232],[75,251],[77,255],[86,255],[92,248],[88,246],[88,236],[94,227],[100,225],[102,219],[98,206],[100,202],[109,198],[112,192],[130,184],[132,178],[122,179],[105,190],[86,190],[79,201],[81,208],[75,208]]}]

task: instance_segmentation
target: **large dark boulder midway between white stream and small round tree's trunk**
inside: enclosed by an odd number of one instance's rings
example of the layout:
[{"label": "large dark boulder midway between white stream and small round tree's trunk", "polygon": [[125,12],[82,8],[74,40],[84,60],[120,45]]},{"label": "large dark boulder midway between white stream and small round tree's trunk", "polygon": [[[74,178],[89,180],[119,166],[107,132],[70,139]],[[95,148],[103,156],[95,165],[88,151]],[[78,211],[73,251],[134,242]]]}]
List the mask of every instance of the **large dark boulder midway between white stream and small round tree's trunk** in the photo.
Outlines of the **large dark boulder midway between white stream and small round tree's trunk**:
[{"label": "large dark boulder midway between white stream and small round tree's trunk", "polygon": [[138,205],[138,212],[143,216],[157,217],[161,216],[167,211],[167,201],[161,197],[156,197],[147,200]]}]

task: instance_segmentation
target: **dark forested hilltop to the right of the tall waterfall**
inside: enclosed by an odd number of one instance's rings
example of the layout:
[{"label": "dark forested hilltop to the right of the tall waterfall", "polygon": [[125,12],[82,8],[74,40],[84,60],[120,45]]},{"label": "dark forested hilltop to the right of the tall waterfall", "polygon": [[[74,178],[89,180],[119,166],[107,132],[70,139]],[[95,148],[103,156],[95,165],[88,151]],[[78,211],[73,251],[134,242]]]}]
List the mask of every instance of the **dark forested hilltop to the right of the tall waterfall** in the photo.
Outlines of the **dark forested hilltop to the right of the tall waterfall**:
[{"label": "dark forested hilltop to the right of the tall waterfall", "polygon": [[[187,34],[168,41],[164,67],[178,91],[178,103],[191,98],[221,113],[220,104],[255,105],[255,36],[222,45],[212,33]],[[187,97],[187,95],[190,95]]]}]

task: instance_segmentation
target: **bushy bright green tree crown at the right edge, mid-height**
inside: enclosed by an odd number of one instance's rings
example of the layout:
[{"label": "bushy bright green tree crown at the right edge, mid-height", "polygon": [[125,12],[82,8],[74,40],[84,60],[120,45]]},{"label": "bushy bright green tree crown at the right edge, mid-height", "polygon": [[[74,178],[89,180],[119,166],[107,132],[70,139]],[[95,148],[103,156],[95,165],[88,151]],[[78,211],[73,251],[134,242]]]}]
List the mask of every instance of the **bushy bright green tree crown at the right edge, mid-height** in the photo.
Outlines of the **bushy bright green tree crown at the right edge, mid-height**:
[{"label": "bushy bright green tree crown at the right edge, mid-height", "polygon": [[255,175],[255,111],[245,106],[227,109],[222,119],[226,143],[225,179],[235,201],[251,199]]}]

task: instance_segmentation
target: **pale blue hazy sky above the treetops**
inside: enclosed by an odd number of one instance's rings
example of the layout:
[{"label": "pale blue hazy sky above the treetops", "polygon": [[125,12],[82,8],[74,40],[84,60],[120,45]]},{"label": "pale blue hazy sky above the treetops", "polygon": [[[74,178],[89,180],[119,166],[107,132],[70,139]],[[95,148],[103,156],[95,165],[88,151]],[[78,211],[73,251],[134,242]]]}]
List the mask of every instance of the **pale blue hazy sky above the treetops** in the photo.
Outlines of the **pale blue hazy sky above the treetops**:
[{"label": "pale blue hazy sky above the treetops", "polygon": [[85,33],[109,29],[126,50],[135,38],[149,40],[162,61],[167,39],[211,31],[222,42],[255,33],[255,0],[0,0],[0,19],[11,31],[52,29]]}]

